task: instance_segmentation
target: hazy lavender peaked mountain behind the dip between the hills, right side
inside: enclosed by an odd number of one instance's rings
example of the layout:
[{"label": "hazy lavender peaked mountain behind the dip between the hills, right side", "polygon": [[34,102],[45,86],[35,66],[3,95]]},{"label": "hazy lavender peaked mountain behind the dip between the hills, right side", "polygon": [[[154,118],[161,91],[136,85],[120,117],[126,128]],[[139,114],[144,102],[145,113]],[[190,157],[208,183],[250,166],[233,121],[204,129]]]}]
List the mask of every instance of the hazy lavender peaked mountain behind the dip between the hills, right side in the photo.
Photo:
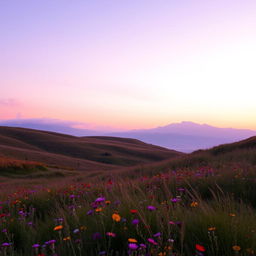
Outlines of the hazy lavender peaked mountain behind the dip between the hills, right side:
[{"label": "hazy lavender peaked mountain behind the dip between the hills, right side", "polygon": [[217,128],[207,124],[181,122],[153,129],[112,133],[112,136],[135,138],[146,143],[192,152],[225,143],[232,143],[256,135],[256,131],[233,128]]}]

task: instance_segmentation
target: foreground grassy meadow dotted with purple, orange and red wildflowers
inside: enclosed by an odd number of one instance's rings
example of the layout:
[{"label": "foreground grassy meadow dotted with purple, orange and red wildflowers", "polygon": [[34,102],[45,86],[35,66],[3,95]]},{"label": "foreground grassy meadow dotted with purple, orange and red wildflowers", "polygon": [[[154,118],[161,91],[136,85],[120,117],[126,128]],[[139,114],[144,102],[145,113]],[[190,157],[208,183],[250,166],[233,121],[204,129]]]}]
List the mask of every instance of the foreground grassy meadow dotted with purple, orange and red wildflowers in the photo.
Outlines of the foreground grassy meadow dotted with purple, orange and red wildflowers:
[{"label": "foreground grassy meadow dotted with purple, orange and red wildflowers", "polygon": [[179,166],[3,183],[0,255],[255,255],[255,167]]}]

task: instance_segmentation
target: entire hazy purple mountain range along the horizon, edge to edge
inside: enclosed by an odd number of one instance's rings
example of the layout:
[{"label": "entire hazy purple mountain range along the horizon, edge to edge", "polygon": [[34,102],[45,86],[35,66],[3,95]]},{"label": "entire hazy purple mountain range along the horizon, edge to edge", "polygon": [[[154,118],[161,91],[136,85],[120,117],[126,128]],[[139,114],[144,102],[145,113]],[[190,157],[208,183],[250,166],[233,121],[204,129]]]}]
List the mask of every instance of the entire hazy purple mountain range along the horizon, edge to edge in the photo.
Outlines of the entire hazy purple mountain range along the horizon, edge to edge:
[{"label": "entire hazy purple mountain range along the horizon, edge to edge", "polygon": [[225,143],[232,143],[256,135],[248,129],[218,128],[193,122],[173,123],[153,129],[130,130],[124,132],[94,131],[74,128],[75,123],[53,119],[15,119],[0,121],[2,126],[23,127],[53,131],[74,136],[114,136],[134,138],[146,143],[192,152]]}]

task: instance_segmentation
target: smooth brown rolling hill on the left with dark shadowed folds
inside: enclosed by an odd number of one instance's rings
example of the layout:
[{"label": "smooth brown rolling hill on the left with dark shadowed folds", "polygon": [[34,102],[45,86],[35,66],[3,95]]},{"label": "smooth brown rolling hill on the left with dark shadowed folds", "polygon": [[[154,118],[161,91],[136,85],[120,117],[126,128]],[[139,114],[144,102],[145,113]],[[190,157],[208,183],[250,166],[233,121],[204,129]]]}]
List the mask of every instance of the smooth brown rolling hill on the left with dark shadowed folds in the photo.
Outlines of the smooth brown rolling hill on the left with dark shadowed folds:
[{"label": "smooth brown rolling hill on the left with dark shadowed folds", "polygon": [[40,130],[0,127],[0,155],[77,170],[112,170],[162,161],[182,153],[136,139],[75,137]]}]

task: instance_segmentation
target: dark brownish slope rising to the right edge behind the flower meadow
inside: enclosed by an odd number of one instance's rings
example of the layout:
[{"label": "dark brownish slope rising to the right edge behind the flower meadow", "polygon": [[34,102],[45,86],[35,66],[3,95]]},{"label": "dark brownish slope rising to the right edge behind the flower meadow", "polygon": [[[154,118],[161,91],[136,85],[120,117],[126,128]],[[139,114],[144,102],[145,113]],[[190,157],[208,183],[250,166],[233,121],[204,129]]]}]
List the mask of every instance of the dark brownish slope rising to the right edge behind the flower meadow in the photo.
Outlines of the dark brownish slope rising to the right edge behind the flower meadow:
[{"label": "dark brownish slope rising to the right edge behind the flower meadow", "polygon": [[161,172],[176,170],[191,170],[195,168],[211,167],[224,171],[231,169],[256,168],[256,136],[230,144],[223,144],[208,150],[198,150],[191,154],[184,154],[175,159],[167,159],[145,164],[142,168],[130,168],[127,172],[120,173],[130,177],[142,175],[154,175]]}]

